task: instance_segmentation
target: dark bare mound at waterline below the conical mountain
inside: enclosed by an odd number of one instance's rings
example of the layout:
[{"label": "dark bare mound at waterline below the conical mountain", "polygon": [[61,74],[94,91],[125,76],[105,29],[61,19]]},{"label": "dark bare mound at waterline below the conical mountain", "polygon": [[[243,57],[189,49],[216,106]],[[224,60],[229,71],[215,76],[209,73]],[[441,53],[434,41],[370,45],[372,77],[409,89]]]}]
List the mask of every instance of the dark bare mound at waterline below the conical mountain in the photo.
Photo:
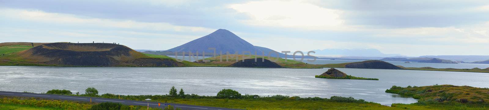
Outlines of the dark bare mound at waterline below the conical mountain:
[{"label": "dark bare mound at waterline below the conical mountain", "polygon": [[231,66],[232,67],[283,68],[282,66],[268,59],[265,59],[265,61],[262,62],[262,58],[256,58],[256,62],[255,62],[255,58],[244,59],[244,62],[243,60],[240,60],[238,62],[231,64]]}]

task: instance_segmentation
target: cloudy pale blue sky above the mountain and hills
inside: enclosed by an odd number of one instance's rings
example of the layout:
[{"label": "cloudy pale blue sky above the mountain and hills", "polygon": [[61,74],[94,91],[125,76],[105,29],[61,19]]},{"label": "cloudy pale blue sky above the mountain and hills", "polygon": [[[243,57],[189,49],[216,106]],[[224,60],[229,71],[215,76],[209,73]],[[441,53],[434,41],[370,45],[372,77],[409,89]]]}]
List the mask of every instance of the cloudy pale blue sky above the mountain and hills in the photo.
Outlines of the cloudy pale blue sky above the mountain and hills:
[{"label": "cloudy pale blue sky above the mountain and hills", "polygon": [[489,55],[489,1],[0,0],[0,42],[167,50],[217,29],[279,52]]}]

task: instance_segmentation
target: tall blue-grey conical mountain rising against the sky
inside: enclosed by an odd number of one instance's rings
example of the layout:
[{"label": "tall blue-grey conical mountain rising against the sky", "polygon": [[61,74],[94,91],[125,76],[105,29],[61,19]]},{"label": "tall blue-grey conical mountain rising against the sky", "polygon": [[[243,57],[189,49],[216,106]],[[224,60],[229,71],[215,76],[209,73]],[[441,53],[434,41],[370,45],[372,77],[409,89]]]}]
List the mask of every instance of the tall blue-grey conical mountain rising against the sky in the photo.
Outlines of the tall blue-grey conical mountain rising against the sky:
[{"label": "tall blue-grey conical mountain rising against the sky", "polygon": [[214,50],[209,50],[208,48],[216,48],[217,54],[219,54],[220,51],[222,51],[222,54],[225,54],[226,52],[229,52],[230,54],[234,54],[235,52],[242,54],[244,51],[248,51],[252,54],[254,54],[255,51],[257,53],[262,53],[261,50],[256,49],[255,46],[249,42],[225,29],[219,29],[207,36],[200,37],[167,51],[186,53],[199,52],[200,54],[202,52],[214,52]]}]

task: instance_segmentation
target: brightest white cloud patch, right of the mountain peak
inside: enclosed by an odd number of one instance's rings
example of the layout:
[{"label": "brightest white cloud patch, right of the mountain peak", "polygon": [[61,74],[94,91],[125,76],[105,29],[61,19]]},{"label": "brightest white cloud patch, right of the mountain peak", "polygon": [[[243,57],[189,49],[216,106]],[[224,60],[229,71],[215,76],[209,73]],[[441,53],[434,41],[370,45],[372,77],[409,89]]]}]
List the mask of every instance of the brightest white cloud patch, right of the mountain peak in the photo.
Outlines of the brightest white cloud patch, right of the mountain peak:
[{"label": "brightest white cloud patch, right of the mountain peak", "polygon": [[230,8],[246,13],[252,18],[243,20],[246,24],[273,27],[293,27],[306,29],[334,28],[344,20],[341,11],[322,8],[313,4],[291,1],[250,1],[231,4]]}]

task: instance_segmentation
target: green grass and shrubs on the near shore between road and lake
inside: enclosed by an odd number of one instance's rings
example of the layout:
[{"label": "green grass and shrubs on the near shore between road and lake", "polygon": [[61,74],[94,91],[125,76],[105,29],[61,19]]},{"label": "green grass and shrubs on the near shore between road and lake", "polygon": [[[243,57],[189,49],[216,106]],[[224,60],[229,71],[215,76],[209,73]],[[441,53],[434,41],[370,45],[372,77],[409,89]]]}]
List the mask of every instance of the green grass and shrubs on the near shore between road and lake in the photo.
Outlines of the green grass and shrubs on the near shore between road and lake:
[{"label": "green grass and shrubs on the near shore between road and lake", "polygon": [[[396,90],[399,87],[396,87]],[[413,87],[411,87],[413,88]],[[88,91],[87,91],[88,90]],[[84,94],[69,94],[73,96],[90,96],[113,99],[138,100],[152,99],[155,102],[188,104],[198,106],[222,107],[244,110],[487,110],[489,106],[473,104],[431,103],[420,99],[413,104],[392,104],[392,107],[378,103],[367,102],[353,97],[332,96],[298,97],[285,95],[260,96],[241,94],[231,89],[223,89],[216,96],[185,94],[183,89],[172,87],[165,95],[117,95],[111,93],[98,94],[95,88],[87,89]],[[392,89],[391,89],[392,90]],[[66,90],[68,91],[68,90]],[[402,91],[402,90],[400,90]],[[438,92],[438,91],[437,91]],[[105,104],[118,105],[118,104]],[[100,105],[102,106],[102,105]],[[34,106],[37,107],[37,106]],[[105,106],[104,106],[105,107]],[[98,107],[97,107],[98,108]],[[127,108],[121,105],[120,108]],[[131,107],[129,110],[139,110],[141,107]],[[143,109],[146,109],[145,107]],[[122,109],[121,109],[122,110]],[[157,110],[157,109],[154,109]],[[169,108],[165,110],[171,110]]]}]

